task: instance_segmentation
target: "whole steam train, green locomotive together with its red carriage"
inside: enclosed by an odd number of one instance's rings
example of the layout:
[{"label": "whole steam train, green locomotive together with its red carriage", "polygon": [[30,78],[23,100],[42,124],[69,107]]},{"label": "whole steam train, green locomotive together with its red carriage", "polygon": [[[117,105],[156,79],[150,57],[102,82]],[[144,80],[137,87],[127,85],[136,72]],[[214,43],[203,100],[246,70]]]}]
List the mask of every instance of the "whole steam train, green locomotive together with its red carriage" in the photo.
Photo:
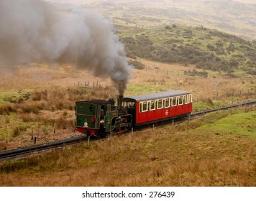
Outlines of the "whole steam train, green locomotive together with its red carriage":
[{"label": "whole steam train, green locomotive together with its red carriage", "polygon": [[101,136],[173,118],[192,111],[192,94],[169,90],[147,95],[76,102],[76,130],[87,136]]}]

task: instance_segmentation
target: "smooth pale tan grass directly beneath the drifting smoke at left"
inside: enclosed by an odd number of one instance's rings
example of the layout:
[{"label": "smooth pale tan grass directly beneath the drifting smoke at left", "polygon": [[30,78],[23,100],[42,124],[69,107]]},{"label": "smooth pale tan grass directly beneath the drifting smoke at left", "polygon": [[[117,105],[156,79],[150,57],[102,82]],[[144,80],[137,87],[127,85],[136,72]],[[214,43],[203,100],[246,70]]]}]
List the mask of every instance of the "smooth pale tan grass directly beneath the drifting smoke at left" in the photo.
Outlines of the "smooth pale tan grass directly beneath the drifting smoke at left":
[{"label": "smooth pale tan grass directly beneath the drifting smoke at left", "polygon": [[54,87],[70,88],[84,86],[85,82],[93,85],[93,82],[99,82],[99,85],[109,85],[110,80],[95,78],[83,70],[77,70],[70,65],[44,65],[31,64],[19,66],[17,70],[10,73],[0,70],[0,92],[9,92],[17,90],[49,90]]}]

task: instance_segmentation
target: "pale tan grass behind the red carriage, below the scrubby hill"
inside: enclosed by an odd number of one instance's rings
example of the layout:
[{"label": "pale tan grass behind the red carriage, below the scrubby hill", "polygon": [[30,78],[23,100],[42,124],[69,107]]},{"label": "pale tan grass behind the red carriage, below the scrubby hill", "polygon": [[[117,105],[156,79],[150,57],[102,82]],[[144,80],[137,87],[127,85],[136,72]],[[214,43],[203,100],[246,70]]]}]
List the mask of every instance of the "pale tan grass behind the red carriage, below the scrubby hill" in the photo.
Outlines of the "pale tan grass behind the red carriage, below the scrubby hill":
[{"label": "pale tan grass behind the red carriage, below the scrubby hill", "polygon": [[[193,70],[195,66],[170,65],[149,60],[140,60],[147,70],[134,70],[132,84],[148,83],[152,90],[181,89],[193,92],[193,101],[232,101],[255,98],[255,78],[227,78],[218,72],[209,72],[209,78],[184,75],[185,70]],[[159,70],[155,70],[155,66]],[[167,75],[168,72],[168,75]],[[129,92],[128,93],[132,93]],[[143,93],[143,90],[141,91]]]}]

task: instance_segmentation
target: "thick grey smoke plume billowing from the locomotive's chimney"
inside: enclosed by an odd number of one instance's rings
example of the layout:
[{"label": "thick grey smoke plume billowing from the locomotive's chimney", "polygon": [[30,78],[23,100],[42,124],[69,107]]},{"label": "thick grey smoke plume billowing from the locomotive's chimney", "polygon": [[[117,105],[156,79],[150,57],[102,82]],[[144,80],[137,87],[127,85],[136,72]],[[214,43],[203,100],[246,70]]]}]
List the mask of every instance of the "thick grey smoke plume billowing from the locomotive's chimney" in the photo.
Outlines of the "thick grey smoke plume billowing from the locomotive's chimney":
[{"label": "thick grey smoke plume billowing from the locomotive's chimney", "polygon": [[88,9],[58,9],[40,0],[0,0],[0,67],[72,63],[111,78],[124,93],[131,67],[108,19]]}]

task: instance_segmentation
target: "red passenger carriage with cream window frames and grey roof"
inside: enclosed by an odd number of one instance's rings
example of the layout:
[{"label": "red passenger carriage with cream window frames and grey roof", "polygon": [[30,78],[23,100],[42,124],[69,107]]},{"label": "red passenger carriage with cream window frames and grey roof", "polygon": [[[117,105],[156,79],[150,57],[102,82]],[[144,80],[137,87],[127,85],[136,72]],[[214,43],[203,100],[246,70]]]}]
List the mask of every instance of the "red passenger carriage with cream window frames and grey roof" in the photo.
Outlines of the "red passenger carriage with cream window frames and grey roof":
[{"label": "red passenger carriage with cream window frames and grey roof", "polygon": [[122,106],[133,116],[134,126],[188,116],[192,111],[192,94],[183,90],[169,90],[122,99]]}]

